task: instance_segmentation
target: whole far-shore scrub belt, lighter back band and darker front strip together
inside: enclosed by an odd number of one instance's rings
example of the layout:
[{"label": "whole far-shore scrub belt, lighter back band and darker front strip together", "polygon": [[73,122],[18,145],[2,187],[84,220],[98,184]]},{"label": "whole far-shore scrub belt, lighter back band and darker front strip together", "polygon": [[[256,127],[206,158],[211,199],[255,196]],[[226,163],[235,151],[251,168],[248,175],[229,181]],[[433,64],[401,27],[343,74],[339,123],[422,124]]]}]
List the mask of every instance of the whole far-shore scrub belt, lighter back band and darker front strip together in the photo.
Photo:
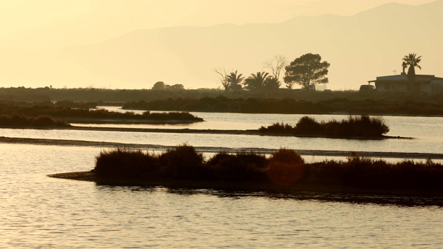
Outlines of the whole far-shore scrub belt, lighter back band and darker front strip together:
[{"label": "whole far-shore scrub belt, lighter back band and darker front strip together", "polygon": [[251,92],[221,89],[167,91],[10,87],[0,88],[0,100],[48,103],[51,103],[50,100],[70,100],[91,104],[95,102],[98,106],[122,106],[127,102],[126,109],[156,111],[443,115],[443,92],[438,89],[433,94],[375,92],[368,95],[357,91],[322,92],[300,89]]}]

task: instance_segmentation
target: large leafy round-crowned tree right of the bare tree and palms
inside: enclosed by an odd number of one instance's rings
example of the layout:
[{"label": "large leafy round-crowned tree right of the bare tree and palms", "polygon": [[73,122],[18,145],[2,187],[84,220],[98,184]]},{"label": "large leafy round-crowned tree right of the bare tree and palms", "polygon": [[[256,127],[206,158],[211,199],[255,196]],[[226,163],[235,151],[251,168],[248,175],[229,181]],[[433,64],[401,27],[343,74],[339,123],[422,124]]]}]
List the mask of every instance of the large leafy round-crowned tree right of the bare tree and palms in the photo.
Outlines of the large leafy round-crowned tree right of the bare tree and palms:
[{"label": "large leafy round-crowned tree right of the bare tree and palms", "polygon": [[329,66],[328,62],[321,62],[320,55],[307,53],[285,67],[284,82],[291,86],[293,83],[300,84],[304,89],[314,84],[325,84],[329,82],[326,77]]}]

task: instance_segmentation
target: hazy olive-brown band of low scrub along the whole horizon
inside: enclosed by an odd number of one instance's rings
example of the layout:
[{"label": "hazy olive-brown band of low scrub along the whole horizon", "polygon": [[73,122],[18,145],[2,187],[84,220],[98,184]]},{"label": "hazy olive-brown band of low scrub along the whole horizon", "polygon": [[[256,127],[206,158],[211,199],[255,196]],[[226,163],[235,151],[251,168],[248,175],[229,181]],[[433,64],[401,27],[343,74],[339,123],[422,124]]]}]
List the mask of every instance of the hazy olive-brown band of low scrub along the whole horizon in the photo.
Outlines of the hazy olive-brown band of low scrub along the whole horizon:
[{"label": "hazy olive-brown band of low scrub along the whole horizon", "polygon": [[275,89],[275,91],[224,91],[222,89],[181,89],[172,90],[152,90],[152,89],[53,89],[44,88],[24,88],[24,87],[0,87],[0,100],[15,101],[61,101],[71,100],[75,102],[128,102],[128,101],[152,101],[164,100],[168,98],[217,98],[219,95],[226,98],[293,98],[318,102],[333,100],[336,98],[347,100],[390,100],[395,102],[405,102],[408,100],[436,102],[442,104],[443,93],[395,93],[395,92],[374,92],[359,93],[358,91],[309,91],[304,89]]}]

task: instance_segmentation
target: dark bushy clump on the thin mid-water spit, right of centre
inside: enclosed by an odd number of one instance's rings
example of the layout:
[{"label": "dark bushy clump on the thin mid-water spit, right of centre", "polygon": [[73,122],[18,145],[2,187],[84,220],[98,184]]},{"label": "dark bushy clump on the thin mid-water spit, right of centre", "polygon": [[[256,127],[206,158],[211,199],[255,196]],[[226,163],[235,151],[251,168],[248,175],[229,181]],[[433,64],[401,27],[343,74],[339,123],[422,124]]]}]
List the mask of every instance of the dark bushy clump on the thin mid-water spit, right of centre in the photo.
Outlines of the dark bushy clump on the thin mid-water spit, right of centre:
[{"label": "dark bushy clump on the thin mid-water spit, right of centre", "polygon": [[314,118],[304,116],[294,126],[274,123],[269,127],[260,127],[265,133],[293,133],[299,136],[329,137],[381,137],[389,132],[389,127],[381,117],[367,115],[350,116],[347,120],[329,120],[318,122]]}]

